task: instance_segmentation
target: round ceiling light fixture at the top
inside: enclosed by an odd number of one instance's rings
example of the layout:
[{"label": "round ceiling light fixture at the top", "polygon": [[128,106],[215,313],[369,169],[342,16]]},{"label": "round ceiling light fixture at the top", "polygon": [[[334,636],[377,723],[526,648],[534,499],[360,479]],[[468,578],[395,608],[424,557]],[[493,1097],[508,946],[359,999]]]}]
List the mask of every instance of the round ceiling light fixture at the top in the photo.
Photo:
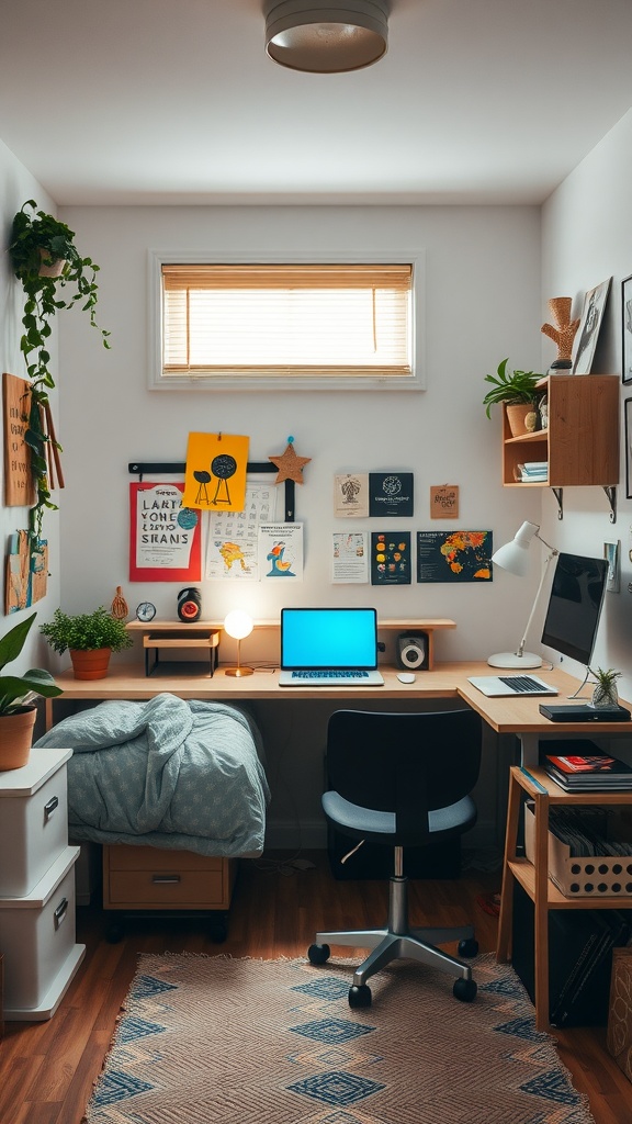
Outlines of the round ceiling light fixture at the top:
[{"label": "round ceiling light fixture at the top", "polygon": [[310,74],[377,63],[388,46],[389,0],[267,0],[265,51]]}]

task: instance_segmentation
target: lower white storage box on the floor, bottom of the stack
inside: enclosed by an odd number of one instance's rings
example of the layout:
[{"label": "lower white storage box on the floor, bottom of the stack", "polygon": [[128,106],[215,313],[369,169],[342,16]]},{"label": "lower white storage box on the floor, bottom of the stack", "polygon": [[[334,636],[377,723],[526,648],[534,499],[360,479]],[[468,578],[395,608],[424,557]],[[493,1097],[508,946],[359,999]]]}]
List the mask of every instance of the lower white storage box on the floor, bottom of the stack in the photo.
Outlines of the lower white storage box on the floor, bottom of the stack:
[{"label": "lower white storage box on the floor, bottom of the stack", "polygon": [[42,1005],[75,946],[74,863],[66,846],[35,889],[0,900],[0,948],[4,958],[4,1017]]}]

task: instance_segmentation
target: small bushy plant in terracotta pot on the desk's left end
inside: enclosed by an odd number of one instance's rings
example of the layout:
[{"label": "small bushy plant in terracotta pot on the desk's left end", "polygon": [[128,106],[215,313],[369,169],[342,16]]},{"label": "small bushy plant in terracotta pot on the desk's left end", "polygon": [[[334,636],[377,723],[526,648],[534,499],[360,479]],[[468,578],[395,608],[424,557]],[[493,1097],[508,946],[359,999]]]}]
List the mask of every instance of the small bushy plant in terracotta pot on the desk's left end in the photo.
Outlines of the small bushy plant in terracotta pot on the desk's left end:
[{"label": "small bushy plant in terracotta pot on the desk's left end", "polygon": [[125,620],[112,617],[102,605],[74,616],[55,609],[53,619],[39,625],[39,632],[60,655],[70,652],[75,679],[103,679],[111,653],[133,644]]}]

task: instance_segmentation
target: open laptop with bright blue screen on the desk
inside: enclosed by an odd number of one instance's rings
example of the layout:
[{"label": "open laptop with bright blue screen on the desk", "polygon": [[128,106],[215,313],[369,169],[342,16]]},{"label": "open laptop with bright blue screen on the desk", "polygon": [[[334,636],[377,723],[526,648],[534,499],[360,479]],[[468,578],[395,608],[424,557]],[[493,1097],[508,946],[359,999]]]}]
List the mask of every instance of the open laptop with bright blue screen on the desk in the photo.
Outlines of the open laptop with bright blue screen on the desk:
[{"label": "open laptop with bright blue screen on the desk", "polygon": [[381,687],[376,609],[281,609],[280,687]]}]

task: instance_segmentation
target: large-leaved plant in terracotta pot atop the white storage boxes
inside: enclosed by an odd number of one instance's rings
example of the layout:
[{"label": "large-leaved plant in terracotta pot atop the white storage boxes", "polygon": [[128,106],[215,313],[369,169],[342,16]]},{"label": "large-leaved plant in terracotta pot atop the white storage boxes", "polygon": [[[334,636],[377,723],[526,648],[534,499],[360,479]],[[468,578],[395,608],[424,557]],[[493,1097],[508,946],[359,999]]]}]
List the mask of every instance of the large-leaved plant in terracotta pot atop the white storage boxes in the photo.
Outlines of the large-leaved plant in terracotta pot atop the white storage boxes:
[{"label": "large-leaved plant in terracotta pot atop the white storage boxes", "polygon": [[20,769],[28,761],[37,708],[34,696],[53,698],[61,695],[49,671],[31,668],[24,676],[2,674],[4,668],[20,654],[37,614],[15,625],[0,637],[0,771]]}]

